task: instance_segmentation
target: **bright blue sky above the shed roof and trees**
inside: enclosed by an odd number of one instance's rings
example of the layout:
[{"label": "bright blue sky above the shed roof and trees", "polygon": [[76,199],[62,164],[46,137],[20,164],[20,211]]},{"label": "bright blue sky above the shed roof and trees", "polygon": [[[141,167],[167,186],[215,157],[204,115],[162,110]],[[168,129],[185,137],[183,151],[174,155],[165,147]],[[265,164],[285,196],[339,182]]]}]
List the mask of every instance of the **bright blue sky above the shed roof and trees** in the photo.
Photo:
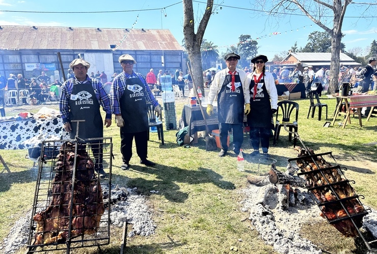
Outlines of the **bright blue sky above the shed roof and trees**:
[{"label": "bright blue sky above the shed roof and trees", "polygon": [[[253,1],[254,2],[254,1]],[[211,16],[204,39],[219,46],[220,52],[238,42],[240,35],[250,35],[258,42],[258,53],[272,58],[275,54],[286,52],[297,42],[304,47],[308,35],[313,31],[323,31],[306,16],[286,16],[285,18],[268,19],[266,15],[258,15],[249,9],[258,9],[247,0],[214,0],[222,9]],[[194,1],[195,21],[205,8],[205,0]],[[7,11],[59,12],[20,13]],[[64,12],[98,12],[127,11],[119,13],[71,14]],[[346,50],[355,47],[365,49],[377,39],[377,14],[374,17],[355,18],[358,10],[348,7],[343,22],[342,42]],[[135,29],[170,29],[179,43],[183,39],[183,7],[179,0],[0,0],[1,25],[36,25],[36,26],[72,26],[102,28],[135,28]],[[274,35],[277,34],[277,35]],[[362,52],[360,55],[364,55]]]}]

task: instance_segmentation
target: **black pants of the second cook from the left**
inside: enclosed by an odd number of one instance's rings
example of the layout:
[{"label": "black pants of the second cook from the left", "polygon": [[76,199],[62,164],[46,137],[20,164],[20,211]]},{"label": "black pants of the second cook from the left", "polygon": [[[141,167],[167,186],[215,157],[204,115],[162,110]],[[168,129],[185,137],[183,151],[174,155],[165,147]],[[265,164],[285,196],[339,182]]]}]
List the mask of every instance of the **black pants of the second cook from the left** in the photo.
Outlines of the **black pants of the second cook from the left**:
[{"label": "black pants of the second cook from the left", "polygon": [[120,151],[123,162],[128,164],[132,157],[132,141],[135,138],[136,152],[140,160],[144,161],[148,153],[148,131],[137,133],[124,133],[120,128]]}]

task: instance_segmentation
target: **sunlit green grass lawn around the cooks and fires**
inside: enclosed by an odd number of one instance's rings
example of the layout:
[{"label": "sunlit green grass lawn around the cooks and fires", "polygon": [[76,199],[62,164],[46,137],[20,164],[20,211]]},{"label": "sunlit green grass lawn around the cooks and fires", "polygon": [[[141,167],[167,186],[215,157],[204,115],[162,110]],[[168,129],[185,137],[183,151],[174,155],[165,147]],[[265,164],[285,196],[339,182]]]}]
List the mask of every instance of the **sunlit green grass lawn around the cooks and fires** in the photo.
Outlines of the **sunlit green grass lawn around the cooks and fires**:
[{"label": "sunlit green grass lawn around the cooks and fires", "polygon": [[[157,99],[162,103],[161,98]],[[186,101],[176,101],[177,119]],[[324,114],[321,121],[306,118],[309,100],[296,102],[300,104],[299,134],[305,145],[317,153],[333,151],[337,162],[348,169],[347,178],[356,181],[353,186],[357,193],[365,196],[362,202],[377,208],[376,146],[364,145],[377,141],[377,117],[372,117],[368,122],[364,117],[363,127],[360,127],[357,118],[351,118],[352,123],[347,124],[345,129],[339,128],[337,123],[324,128]],[[321,102],[329,105],[331,117],[336,100],[322,96]],[[57,105],[48,106],[57,108]],[[36,112],[38,108],[33,110]],[[10,112],[7,111],[7,115]],[[338,119],[337,122],[340,122]],[[151,133],[148,157],[158,164],[155,168],[142,167],[134,150],[131,169],[122,171],[119,128],[113,121],[113,125],[104,130],[104,136],[113,137],[114,143],[112,183],[138,187],[138,192],[147,196],[157,225],[152,236],[127,239],[127,253],[230,253],[235,250],[239,253],[274,253],[271,246],[258,238],[258,232],[246,219],[248,214],[240,211],[239,201],[244,197],[238,190],[248,186],[246,177],[255,173],[258,164],[251,163],[247,157],[246,172],[239,172],[235,154],[219,158],[219,150],[205,151],[203,138],[199,138],[199,143],[190,148],[179,147],[175,141],[176,132],[164,130],[164,146],[158,141],[157,134]],[[245,152],[251,152],[246,134],[243,148]],[[0,174],[0,240],[3,240],[15,221],[32,208],[36,173],[31,170],[33,162],[24,158],[26,150],[0,152],[11,171]],[[287,158],[297,156],[284,130],[280,133],[277,146],[271,146],[269,153],[277,160],[280,170],[286,167]],[[152,194],[150,190],[158,190],[158,194]],[[324,250],[331,253],[361,251],[358,240],[343,238],[327,223],[315,225],[320,230],[310,230],[310,227],[314,226],[303,225],[303,236]],[[329,233],[333,236],[324,237]],[[121,236],[121,230],[112,227],[110,245],[101,247],[101,250],[76,249],[74,253],[119,253]]]}]

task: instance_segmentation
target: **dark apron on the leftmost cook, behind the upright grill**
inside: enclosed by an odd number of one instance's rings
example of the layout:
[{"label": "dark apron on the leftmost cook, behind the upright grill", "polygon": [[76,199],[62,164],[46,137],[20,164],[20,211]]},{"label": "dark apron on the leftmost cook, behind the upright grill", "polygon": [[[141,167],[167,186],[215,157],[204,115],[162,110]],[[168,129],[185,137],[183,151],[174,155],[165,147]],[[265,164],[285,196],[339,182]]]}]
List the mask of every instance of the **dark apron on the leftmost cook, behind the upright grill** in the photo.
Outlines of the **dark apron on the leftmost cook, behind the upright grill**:
[{"label": "dark apron on the leftmost cook, behind the upright grill", "polygon": [[99,103],[94,92],[92,81],[73,85],[71,97],[68,100],[70,108],[68,120],[71,123],[71,139],[76,135],[77,123],[72,120],[85,120],[78,125],[78,137],[81,139],[102,138],[103,122],[99,112]]}]

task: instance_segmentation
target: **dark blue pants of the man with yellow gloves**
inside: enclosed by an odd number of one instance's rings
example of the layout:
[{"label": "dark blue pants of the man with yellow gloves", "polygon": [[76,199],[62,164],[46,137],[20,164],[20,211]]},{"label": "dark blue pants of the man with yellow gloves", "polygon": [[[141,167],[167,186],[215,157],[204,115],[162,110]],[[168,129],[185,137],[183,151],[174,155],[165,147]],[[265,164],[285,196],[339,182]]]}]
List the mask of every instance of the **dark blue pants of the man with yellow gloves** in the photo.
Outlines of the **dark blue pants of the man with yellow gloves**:
[{"label": "dark blue pants of the man with yellow gloves", "polygon": [[219,122],[219,129],[221,148],[225,151],[228,151],[228,131],[232,130],[234,152],[238,153],[239,149],[241,148],[242,142],[244,141],[243,125]]}]

